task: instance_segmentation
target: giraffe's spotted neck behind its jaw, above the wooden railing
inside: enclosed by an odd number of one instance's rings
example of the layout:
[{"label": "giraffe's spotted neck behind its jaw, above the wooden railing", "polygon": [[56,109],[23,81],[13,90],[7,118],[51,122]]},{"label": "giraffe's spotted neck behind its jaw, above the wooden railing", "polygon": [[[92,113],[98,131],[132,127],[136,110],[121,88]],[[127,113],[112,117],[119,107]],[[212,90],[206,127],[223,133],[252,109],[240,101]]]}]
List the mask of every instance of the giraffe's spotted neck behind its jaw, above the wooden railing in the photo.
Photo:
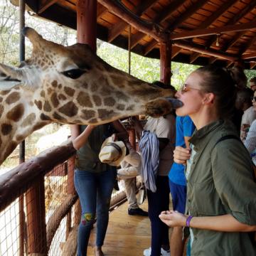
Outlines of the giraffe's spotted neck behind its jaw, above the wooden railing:
[{"label": "giraffe's spotted neck behind its jaw, above the wooden railing", "polygon": [[0,93],[0,165],[16,146],[36,129],[49,124],[42,120],[31,93],[19,87]]}]

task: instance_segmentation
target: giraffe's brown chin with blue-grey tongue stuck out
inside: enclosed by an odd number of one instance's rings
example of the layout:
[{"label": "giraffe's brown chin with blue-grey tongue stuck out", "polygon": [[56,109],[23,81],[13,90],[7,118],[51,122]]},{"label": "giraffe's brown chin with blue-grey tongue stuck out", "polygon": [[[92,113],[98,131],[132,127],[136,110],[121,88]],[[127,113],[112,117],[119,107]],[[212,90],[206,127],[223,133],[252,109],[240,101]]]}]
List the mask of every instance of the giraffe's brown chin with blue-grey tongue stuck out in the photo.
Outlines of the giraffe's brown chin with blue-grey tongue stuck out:
[{"label": "giraffe's brown chin with blue-grey tongue stuck out", "polygon": [[182,107],[183,103],[174,98],[161,98],[146,104],[146,114],[151,117],[162,117],[172,110]]}]

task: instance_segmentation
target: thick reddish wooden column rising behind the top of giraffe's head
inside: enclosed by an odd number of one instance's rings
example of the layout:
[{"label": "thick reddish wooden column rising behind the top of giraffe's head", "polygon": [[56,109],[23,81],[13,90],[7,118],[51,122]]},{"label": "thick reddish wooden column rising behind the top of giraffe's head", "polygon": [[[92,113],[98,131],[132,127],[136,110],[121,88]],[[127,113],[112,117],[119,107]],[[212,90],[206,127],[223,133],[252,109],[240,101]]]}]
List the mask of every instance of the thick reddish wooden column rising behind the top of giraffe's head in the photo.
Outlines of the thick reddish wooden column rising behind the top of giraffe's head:
[{"label": "thick reddish wooden column rising behind the top of giraffe's head", "polygon": [[77,1],[78,43],[87,43],[96,52],[97,38],[97,1]]}]

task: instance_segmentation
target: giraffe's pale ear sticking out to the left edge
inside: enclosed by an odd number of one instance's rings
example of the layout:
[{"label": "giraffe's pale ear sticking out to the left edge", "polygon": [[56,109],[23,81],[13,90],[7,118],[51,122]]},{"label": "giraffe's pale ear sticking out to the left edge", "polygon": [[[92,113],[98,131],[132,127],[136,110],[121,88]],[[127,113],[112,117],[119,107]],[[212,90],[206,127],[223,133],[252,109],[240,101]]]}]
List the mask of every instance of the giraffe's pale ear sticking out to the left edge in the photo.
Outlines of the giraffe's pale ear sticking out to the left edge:
[{"label": "giraffe's pale ear sticking out to the left edge", "polygon": [[23,85],[28,90],[36,90],[40,76],[36,68],[14,68],[0,63],[0,90],[10,90],[16,85]]}]

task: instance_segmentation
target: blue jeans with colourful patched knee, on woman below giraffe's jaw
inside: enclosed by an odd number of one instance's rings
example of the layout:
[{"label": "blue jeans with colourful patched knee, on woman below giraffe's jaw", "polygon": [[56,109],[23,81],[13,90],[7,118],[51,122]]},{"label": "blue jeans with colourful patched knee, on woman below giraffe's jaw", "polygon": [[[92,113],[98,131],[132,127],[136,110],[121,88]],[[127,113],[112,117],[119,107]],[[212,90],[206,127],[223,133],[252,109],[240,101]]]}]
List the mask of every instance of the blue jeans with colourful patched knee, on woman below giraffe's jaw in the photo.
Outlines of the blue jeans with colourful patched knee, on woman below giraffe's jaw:
[{"label": "blue jeans with colourful patched knee, on woman below giraffe's jaw", "polygon": [[97,215],[96,246],[103,245],[109,220],[110,199],[117,176],[115,167],[107,166],[107,171],[95,174],[75,170],[75,190],[78,192],[82,216],[78,228],[78,256],[87,255],[90,230]]}]

